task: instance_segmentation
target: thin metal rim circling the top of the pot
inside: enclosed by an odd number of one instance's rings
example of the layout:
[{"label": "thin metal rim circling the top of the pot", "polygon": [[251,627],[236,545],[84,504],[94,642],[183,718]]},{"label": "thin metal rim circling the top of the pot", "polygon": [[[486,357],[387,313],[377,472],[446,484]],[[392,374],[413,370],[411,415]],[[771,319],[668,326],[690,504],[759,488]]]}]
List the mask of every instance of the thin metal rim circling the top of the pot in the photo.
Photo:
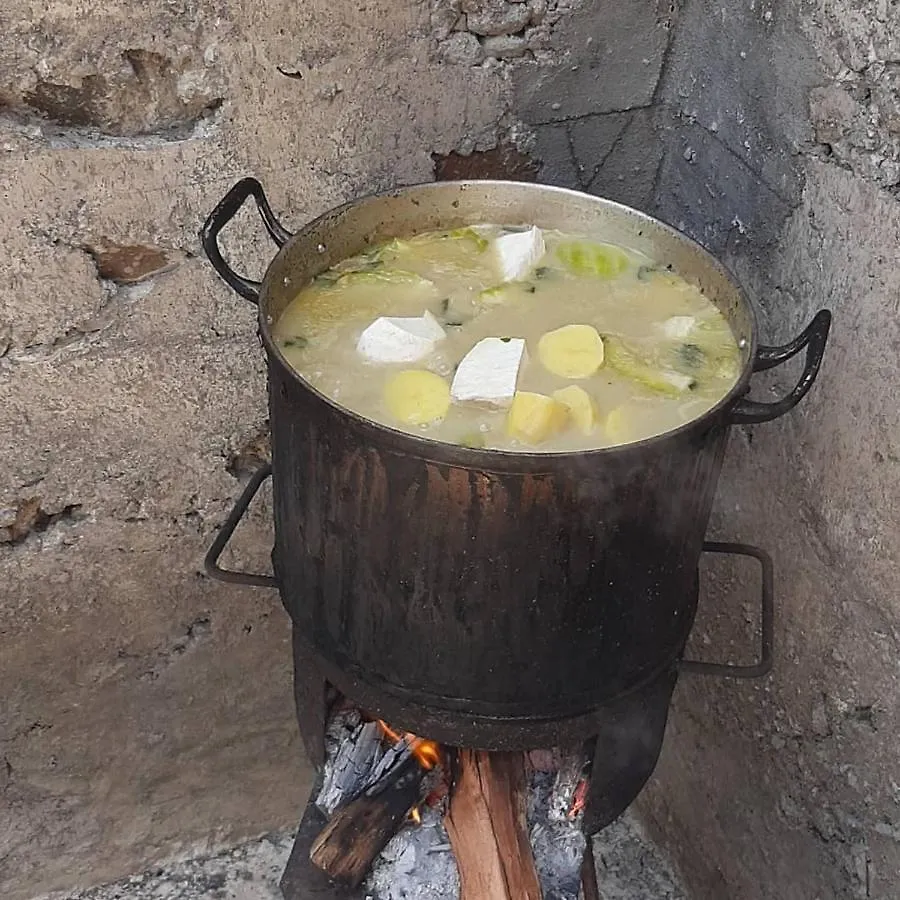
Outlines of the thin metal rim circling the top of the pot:
[{"label": "thin metal rim circling the top of the pot", "polygon": [[[403,431],[398,428],[392,428],[390,425],[384,425],[376,422],[374,419],[367,419],[359,413],[342,406],[335,402],[326,394],[323,394],[312,384],[310,384],[299,372],[287,361],[281,350],[275,344],[272,338],[272,326],[275,324],[265,311],[265,297],[269,291],[271,279],[274,277],[272,272],[277,259],[288,253],[295,243],[301,240],[310,231],[317,228],[327,219],[335,218],[343,213],[349,212],[354,207],[379,199],[399,198],[416,193],[430,193],[433,191],[447,192],[457,189],[460,193],[471,188],[490,188],[504,187],[514,188],[517,190],[533,191],[538,194],[554,193],[562,196],[570,196],[579,200],[589,200],[604,206],[607,209],[618,211],[623,215],[646,222],[648,225],[656,229],[662,229],[676,240],[690,247],[701,258],[703,258],[710,268],[718,271],[734,288],[738,296],[743,300],[744,305],[750,317],[750,346],[748,350],[747,361],[744,364],[743,371],[738,377],[732,389],[715,405],[710,407],[701,416],[685,422],[678,428],[672,428],[661,434],[652,435],[640,441],[631,441],[627,444],[616,444],[612,447],[595,447],[589,450],[565,450],[550,452],[522,452],[518,450],[487,450],[463,447],[459,444],[451,444],[446,441],[438,441],[433,438],[422,435],[413,434],[412,432]],[[540,223],[534,221],[533,224]],[[469,469],[477,469],[480,471],[491,471],[492,469],[505,470],[508,466],[527,467],[530,470],[540,470],[543,468],[556,468],[556,465],[565,463],[574,463],[577,461],[596,461],[601,462],[605,459],[615,457],[622,459],[625,456],[637,455],[649,447],[658,446],[662,442],[669,442],[692,432],[701,432],[707,430],[713,424],[719,422],[727,415],[728,408],[747,393],[750,376],[753,374],[753,361],[756,358],[756,350],[759,343],[759,321],[756,315],[756,309],[747,297],[740,282],[737,280],[731,270],[718,260],[713,254],[707,250],[702,244],[693,238],[679,231],[673,225],[663,222],[661,219],[654,218],[648,213],[641,212],[634,207],[626,206],[615,200],[609,200],[605,197],[598,197],[594,194],[588,194],[584,191],[576,191],[571,188],[557,187],[555,185],[538,184],[529,181],[508,181],[502,179],[467,179],[463,181],[427,181],[416,184],[393,187],[384,191],[376,191],[365,194],[353,200],[335,206],[326,210],[321,215],[312,219],[304,225],[294,236],[278,251],[276,256],[271,260],[263,276],[260,288],[259,303],[259,335],[262,343],[269,354],[270,358],[276,359],[284,369],[291,380],[299,387],[303,388],[311,394],[317,401],[324,403],[330,407],[333,412],[341,414],[347,419],[347,424],[351,424],[361,431],[369,432],[373,438],[380,443],[392,444],[394,449],[421,459],[427,459],[431,462],[462,466]],[[742,348],[744,349],[744,348]],[[556,464],[556,465],[554,465]]]}]

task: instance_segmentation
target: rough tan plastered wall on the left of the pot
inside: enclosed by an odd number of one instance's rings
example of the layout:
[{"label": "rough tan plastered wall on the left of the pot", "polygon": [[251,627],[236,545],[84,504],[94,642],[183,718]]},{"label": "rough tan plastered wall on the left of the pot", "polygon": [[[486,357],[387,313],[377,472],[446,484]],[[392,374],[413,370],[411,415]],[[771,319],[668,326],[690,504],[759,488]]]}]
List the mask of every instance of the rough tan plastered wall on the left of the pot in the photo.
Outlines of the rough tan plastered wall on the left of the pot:
[{"label": "rough tan plastered wall on the left of the pot", "polygon": [[[0,10],[0,896],[296,820],[286,616],[202,555],[262,452],[254,310],[199,258],[256,174],[288,226],[490,146],[502,71],[427,5]],[[228,251],[273,252],[242,213]],[[265,571],[265,498],[232,563]]]}]

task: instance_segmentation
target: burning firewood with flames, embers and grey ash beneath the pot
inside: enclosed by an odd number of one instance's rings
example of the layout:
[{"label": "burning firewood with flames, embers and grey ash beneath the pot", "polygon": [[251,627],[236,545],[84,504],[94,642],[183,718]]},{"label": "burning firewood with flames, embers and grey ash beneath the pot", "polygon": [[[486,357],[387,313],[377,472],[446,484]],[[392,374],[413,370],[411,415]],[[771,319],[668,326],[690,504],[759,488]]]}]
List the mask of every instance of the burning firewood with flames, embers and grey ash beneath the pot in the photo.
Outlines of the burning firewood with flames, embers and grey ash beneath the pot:
[{"label": "burning firewood with flames, embers and grey ash beneath the pot", "polygon": [[585,748],[442,752],[352,709],[333,717],[326,746],[315,806],[330,820],[310,832],[303,857],[335,898],[363,896],[365,881],[366,897],[396,900],[435,877],[454,900],[580,896]]}]

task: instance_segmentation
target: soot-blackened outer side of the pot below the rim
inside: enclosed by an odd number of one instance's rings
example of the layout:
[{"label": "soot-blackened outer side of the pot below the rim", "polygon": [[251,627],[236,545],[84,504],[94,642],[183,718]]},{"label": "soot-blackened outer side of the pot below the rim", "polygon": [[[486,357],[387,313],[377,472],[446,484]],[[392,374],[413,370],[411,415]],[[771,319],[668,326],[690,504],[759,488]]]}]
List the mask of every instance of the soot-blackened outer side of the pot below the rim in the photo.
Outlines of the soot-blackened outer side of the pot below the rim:
[{"label": "soot-blackened outer side of the pot below the rim", "polygon": [[276,576],[334,666],[398,700],[553,718],[681,652],[721,425],[601,465],[492,471],[373,440],[269,378]]}]

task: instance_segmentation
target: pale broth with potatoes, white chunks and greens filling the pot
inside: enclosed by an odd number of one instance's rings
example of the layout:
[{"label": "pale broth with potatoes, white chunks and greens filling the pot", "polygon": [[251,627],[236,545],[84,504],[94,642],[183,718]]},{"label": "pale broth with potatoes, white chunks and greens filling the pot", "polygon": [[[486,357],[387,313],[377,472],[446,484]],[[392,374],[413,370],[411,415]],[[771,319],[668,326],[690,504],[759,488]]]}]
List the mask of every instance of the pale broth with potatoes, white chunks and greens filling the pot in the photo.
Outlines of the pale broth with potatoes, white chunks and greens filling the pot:
[{"label": "pale broth with potatoes, white chunks and greens filling the pot", "polygon": [[519,452],[670,431],[741,367],[698,288],[627,247],[534,227],[427,232],[344,260],[300,291],[274,337],[361,416]]}]

